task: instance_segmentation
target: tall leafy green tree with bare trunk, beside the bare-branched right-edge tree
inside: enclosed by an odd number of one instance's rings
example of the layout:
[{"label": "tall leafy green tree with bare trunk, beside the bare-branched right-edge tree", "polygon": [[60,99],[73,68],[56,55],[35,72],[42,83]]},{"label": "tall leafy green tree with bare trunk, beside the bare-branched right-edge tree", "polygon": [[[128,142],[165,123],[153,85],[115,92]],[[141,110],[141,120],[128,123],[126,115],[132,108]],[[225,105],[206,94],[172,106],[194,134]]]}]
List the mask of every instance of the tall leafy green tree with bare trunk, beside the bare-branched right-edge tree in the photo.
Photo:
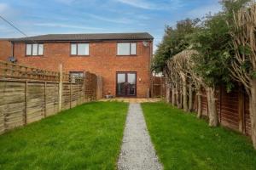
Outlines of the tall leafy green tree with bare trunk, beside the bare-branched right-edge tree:
[{"label": "tall leafy green tree with bare trunk, beside the bare-branched right-edge tree", "polygon": [[[229,63],[225,62],[225,54],[234,50],[230,29],[227,22],[232,20],[232,14],[247,4],[248,0],[224,0],[224,10],[215,15],[207,15],[200,31],[191,38],[192,47],[198,52],[193,59],[195,72],[202,78],[207,90],[209,110],[209,125],[218,125],[218,114],[215,103],[216,87],[225,84],[228,91],[233,83],[230,76]],[[231,25],[232,26],[232,25]]]}]

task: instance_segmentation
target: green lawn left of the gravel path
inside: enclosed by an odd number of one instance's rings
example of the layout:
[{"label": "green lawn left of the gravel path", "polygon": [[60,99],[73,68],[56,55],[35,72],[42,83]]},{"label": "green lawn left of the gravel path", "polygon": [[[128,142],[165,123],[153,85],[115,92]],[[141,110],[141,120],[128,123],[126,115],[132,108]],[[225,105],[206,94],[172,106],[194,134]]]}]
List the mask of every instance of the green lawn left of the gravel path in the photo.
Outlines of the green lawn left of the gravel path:
[{"label": "green lawn left of the gravel path", "polygon": [[80,105],[0,136],[0,169],[115,169],[128,105]]}]

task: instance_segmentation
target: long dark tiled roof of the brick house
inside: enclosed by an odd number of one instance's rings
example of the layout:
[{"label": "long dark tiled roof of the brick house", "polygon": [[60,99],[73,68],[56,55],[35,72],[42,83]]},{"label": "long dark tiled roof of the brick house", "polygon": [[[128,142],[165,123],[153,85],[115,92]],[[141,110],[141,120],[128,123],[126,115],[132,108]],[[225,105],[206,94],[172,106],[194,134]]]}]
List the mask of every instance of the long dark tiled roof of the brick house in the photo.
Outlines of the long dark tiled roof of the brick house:
[{"label": "long dark tiled roof of the brick house", "polygon": [[47,34],[34,37],[12,38],[11,42],[72,42],[72,41],[116,41],[153,40],[148,32],[98,33],[98,34]]}]

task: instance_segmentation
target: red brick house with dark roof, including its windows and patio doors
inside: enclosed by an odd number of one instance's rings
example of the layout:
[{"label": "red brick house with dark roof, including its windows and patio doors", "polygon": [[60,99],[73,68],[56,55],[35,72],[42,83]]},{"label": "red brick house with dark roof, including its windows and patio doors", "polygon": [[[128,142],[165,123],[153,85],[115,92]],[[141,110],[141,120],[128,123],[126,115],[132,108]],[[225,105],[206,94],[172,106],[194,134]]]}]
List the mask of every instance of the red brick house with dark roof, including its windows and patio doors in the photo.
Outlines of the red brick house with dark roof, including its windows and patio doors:
[{"label": "red brick house with dark roof, including its windows and patio doors", "polygon": [[19,64],[103,78],[103,95],[148,97],[153,37],[142,33],[50,34],[11,39]]}]

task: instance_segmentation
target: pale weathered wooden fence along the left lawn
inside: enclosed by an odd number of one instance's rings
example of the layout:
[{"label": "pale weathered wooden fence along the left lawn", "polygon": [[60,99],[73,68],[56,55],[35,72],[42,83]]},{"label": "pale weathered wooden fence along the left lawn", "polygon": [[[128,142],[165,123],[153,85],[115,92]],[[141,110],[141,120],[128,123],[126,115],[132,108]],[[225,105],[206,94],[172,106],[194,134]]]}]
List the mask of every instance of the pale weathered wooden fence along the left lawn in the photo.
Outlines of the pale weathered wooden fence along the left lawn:
[{"label": "pale weathered wooden fence along the left lawn", "polygon": [[0,133],[96,100],[95,74],[84,72],[75,80],[61,71],[0,61]]}]

